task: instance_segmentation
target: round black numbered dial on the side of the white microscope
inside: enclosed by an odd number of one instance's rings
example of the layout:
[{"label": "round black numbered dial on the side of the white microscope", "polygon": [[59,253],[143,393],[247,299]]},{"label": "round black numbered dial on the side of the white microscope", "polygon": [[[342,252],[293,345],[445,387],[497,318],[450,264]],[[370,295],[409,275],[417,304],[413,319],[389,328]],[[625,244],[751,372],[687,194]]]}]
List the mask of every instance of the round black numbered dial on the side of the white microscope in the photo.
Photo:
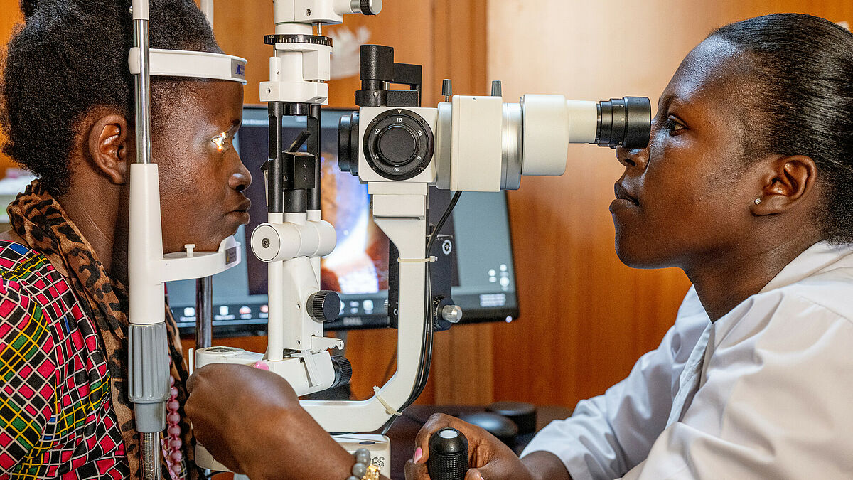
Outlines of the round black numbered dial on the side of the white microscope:
[{"label": "round black numbered dial on the side of the white microscope", "polygon": [[386,179],[407,180],[423,172],[432,160],[432,129],[421,115],[392,108],[377,115],[364,135],[364,155]]}]

